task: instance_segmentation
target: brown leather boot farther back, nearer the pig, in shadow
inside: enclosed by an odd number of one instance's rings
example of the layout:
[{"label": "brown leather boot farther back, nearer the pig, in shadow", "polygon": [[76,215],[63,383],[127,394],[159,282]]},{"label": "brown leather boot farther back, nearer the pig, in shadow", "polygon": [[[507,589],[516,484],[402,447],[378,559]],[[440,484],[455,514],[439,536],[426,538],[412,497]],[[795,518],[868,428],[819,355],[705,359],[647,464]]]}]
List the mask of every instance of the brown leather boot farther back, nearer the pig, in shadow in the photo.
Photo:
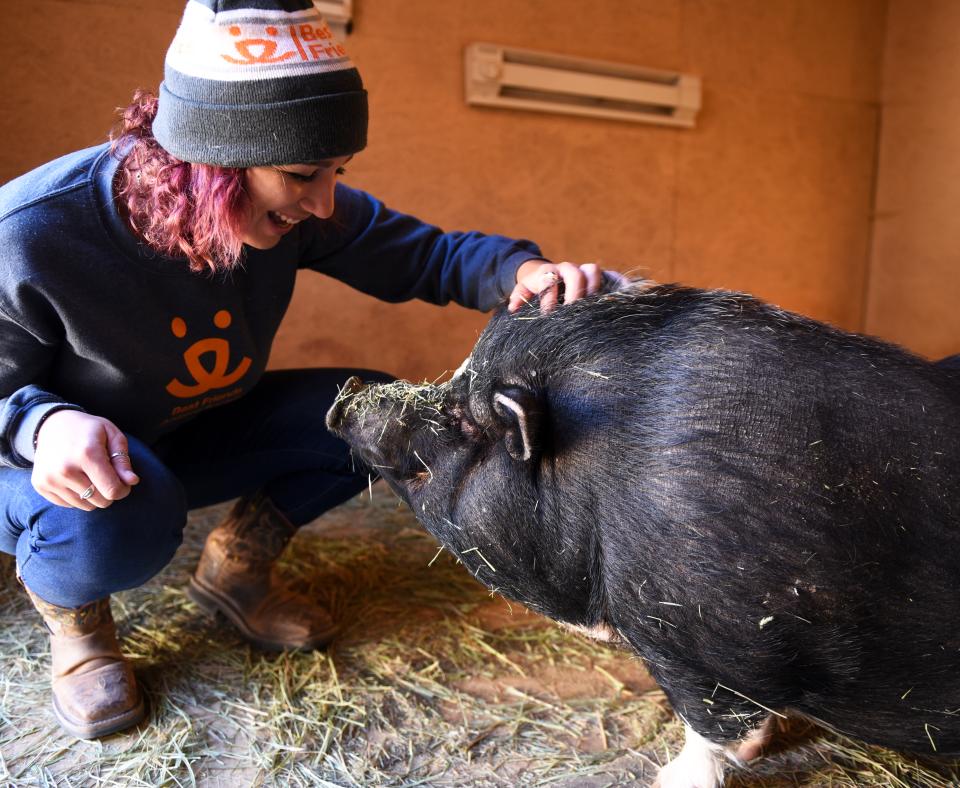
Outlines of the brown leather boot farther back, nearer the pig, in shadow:
[{"label": "brown leather boot farther back, nearer the pig, in shadow", "polygon": [[276,577],[273,562],[296,531],[262,493],[241,498],[207,537],[188,594],[222,613],[267,651],[325,646],[336,627],[316,603]]}]

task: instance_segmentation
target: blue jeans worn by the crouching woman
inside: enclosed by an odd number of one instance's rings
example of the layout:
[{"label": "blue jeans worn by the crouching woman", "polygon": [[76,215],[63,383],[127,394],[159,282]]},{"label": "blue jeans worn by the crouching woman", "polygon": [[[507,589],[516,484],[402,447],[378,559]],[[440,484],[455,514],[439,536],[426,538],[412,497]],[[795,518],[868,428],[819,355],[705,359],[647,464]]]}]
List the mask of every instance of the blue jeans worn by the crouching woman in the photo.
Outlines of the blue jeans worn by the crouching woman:
[{"label": "blue jeans worn by the crouching woman", "polygon": [[297,369],[266,373],[245,397],[201,413],[147,446],[128,435],[140,476],[126,498],[84,512],[56,506],[30,471],[0,468],[0,550],[16,555],[24,582],[62,607],[79,607],[136,588],[180,545],[187,511],[263,489],[296,526],[356,495],[367,473],[324,424],[337,386],[369,370]]}]

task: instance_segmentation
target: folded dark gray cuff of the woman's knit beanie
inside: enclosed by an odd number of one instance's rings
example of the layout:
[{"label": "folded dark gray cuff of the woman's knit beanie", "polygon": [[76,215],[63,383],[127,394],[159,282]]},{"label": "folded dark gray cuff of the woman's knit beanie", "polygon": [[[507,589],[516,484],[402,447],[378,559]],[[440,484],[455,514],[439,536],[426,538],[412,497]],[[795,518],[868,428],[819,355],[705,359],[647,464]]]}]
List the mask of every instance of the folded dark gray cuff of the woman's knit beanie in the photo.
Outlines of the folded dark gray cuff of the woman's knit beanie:
[{"label": "folded dark gray cuff of the woman's knit beanie", "polygon": [[182,161],[220,167],[348,156],[367,144],[367,92],[224,106],[176,96],[162,83],[153,136]]}]

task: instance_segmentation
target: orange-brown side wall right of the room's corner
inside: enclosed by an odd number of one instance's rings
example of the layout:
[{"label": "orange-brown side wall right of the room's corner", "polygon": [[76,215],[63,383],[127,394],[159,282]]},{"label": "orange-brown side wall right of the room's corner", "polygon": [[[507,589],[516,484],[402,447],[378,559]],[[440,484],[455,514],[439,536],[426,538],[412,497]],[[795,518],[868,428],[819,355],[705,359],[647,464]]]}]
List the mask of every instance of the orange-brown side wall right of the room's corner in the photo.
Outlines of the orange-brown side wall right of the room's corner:
[{"label": "orange-brown side wall right of the room's corner", "polygon": [[892,0],[865,329],[960,352],[960,4]]}]

